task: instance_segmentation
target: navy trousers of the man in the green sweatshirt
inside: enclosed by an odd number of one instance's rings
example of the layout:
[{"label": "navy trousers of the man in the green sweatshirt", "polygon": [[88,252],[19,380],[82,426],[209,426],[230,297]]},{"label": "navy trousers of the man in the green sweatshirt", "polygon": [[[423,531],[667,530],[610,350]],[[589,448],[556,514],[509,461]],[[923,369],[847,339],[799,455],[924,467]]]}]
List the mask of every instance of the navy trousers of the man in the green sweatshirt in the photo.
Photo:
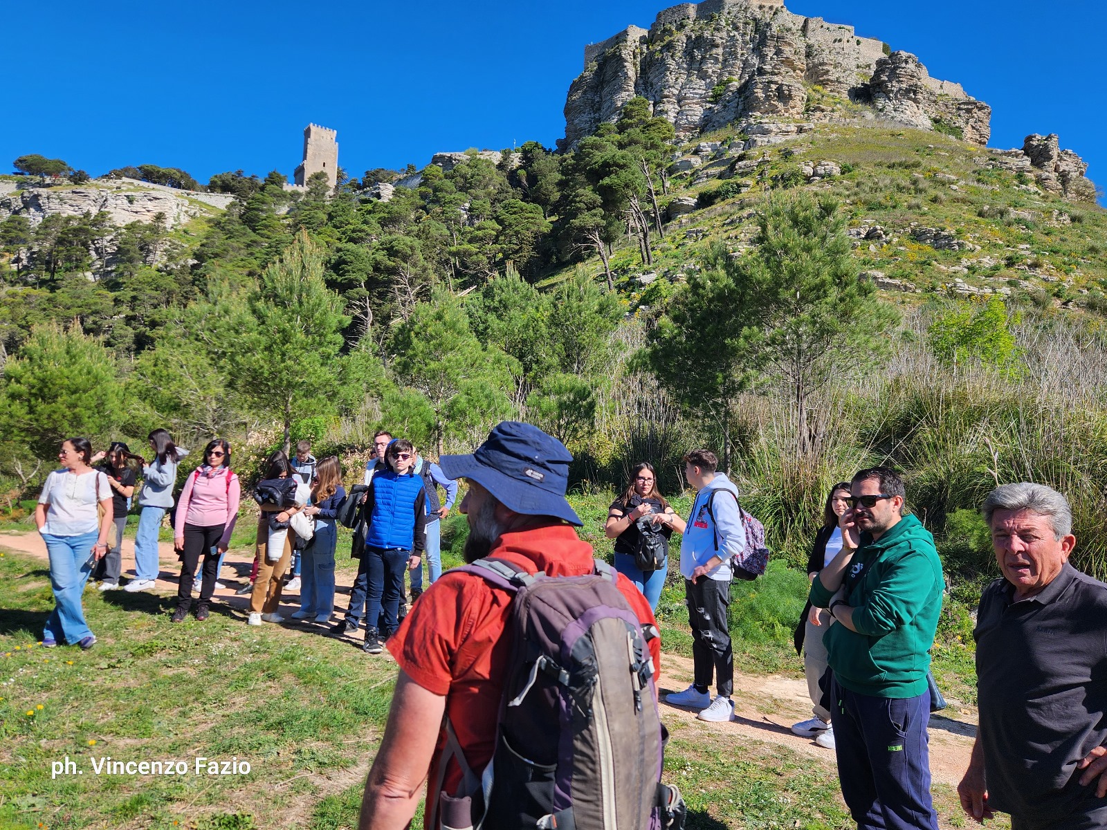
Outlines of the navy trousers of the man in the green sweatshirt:
[{"label": "navy trousers of the man in the green sweatshirt", "polygon": [[830,685],[838,779],[858,830],[938,830],[930,798],[930,692],[861,695]]}]

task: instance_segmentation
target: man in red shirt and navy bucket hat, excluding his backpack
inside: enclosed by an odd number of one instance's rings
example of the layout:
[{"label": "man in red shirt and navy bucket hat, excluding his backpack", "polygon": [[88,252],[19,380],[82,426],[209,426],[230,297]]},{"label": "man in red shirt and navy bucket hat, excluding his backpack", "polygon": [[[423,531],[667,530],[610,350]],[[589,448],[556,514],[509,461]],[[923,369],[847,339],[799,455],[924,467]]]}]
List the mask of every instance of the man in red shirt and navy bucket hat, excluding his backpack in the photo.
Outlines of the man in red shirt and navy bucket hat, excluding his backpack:
[{"label": "man in red shirt and navy bucket hat, excluding his backpack", "polygon": [[[465,478],[461,511],[469,537],[465,559],[508,560],[530,573],[591,573],[592,548],[580,541],[577,513],[566,501],[572,456],[537,427],[504,422],[473,455],[443,456],[448,478]],[[644,625],[655,625],[650,603],[619,574],[618,587]],[[477,774],[493,757],[496,720],[508,675],[510,642],[503,636],[511,596],[469,573],[446,572],[412,606],[387,649],[400,664],[389,723],[365,781],[360,830],[403,830],[428,781],[424,827],[438,827],[439,787],[453,793],[463,772],[439,770],[448,716],[468,766]],[[661,640],[649,641],[660,671]],[[441,781],[441,785],[439,785]]]}]

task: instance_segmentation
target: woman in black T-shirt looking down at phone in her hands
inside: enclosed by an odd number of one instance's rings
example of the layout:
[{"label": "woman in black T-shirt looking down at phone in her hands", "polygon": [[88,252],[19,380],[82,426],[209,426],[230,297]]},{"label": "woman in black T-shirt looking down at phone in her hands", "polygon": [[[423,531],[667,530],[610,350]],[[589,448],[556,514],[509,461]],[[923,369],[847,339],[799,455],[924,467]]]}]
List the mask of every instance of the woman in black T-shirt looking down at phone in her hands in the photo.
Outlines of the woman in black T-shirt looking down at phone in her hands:
[{"label": "woman in black T-shirt looking down at phone in her hands", "polygon": [[[640,520],[643,517],[649,527],[643,528]],[[655,557],[645,554],[648,539],[643,535],[660,533],[664,540],[665,556],[658,561]],[[665,587],[669,572],[669,538],[673,530],[684,532],[684,520],[669,506],[665,497],[658,489],[658,476],[653,465],[642,461],[630,474],[630,483],[622,496],[611,502],[608,508],[608,523],[603,528],[608,539],[615,540],[615,570],[638,585],[650,602],[650,608],[658,610],[661,600],[661,589]],[[652,561],[651,561],[652,559]],[[650,566],[654,566],[651,568]],[[643,568],[643,566],[645,566]]]}]

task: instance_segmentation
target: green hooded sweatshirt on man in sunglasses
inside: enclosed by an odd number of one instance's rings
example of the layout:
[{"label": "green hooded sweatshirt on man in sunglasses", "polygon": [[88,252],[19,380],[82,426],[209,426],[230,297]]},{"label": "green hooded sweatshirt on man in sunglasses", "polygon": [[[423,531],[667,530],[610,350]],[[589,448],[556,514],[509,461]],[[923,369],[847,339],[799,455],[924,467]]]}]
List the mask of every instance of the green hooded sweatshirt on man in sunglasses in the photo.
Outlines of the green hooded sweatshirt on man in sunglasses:
[{"label": "green hooded sweatshirt on man in sunglasses", "polygon": [[[838,683],[872,697],[921,695],[944,587],[934,537],[914,516],[877,541],[862,533],[844,584],[857,631],[835,623],[823,637]],[[813,605],[826,608],[831,595],[811,583]]]}]

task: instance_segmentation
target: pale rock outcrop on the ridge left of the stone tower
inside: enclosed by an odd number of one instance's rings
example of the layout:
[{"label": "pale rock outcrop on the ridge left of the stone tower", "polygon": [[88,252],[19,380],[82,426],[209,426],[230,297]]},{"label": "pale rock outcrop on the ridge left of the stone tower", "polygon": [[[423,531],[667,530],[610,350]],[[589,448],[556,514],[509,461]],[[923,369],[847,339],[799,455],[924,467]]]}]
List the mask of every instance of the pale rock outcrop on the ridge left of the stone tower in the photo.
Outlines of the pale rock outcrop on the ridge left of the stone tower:
[{"label": "pale rock outcrop on the ridge left of the stone tower", "polygon": [[51,214],[95,216],[103,211],[113,225],[123,226],[134,221],[153,222],[161,214],[166,228],[173,229],[210,214],[207,206],[226,207],[234,201],[232,196],[224,194],[194,194],[170,187],[143,187],[142,184],[126,179],[105,181],[101,186],[24,187],[0,198],[0,221],[19,214],[38,225]]}]

